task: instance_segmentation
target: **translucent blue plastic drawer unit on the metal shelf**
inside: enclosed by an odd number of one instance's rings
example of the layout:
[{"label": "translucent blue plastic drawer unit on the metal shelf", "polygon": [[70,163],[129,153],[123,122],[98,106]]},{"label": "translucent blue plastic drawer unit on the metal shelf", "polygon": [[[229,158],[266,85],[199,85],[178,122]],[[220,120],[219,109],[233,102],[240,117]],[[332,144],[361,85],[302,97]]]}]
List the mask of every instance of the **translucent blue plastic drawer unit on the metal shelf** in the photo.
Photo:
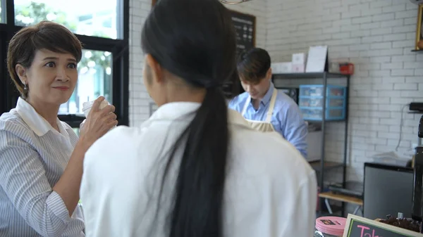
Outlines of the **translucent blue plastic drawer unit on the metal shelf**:
[{"label": "translucent blue plastic drawer unit on the metal shelf", "polygon": [[[298,105],[304,120],[321,121],[323,118],[324,85],[300,85]],[[326,86],[326,120],[345,120],[347,88]]]}]

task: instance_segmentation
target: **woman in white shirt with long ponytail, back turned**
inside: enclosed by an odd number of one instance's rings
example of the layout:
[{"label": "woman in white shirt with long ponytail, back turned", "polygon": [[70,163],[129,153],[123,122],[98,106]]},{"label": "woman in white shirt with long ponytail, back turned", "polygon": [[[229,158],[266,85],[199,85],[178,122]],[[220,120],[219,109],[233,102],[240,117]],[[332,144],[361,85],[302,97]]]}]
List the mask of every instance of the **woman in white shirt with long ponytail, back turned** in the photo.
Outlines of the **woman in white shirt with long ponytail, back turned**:
[{"label": "woman in white shirt with long ponytail, back turned", "polygon": [[235,31],[216,0],[161,0],[142,30],[144,83],[159,109],[85,154],[87,236],[313,235],[314,171],[288,141],[228,110]]}]

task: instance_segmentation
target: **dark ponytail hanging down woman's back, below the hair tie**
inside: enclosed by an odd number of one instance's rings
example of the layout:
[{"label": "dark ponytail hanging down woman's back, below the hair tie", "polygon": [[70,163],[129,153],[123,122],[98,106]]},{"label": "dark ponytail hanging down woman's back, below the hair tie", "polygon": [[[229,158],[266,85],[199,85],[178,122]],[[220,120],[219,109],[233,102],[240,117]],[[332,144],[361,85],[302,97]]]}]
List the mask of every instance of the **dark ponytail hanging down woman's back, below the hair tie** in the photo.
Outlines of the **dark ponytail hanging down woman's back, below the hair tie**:
[{"label": "dark ponytail hanging down woman's back, below the hair tie", "polygon": [[[169,236],[221,237],[228,152],[228,109],[220,89],[207,94],[186,130]],[[183,134],[182,136],[184,136]]]}]

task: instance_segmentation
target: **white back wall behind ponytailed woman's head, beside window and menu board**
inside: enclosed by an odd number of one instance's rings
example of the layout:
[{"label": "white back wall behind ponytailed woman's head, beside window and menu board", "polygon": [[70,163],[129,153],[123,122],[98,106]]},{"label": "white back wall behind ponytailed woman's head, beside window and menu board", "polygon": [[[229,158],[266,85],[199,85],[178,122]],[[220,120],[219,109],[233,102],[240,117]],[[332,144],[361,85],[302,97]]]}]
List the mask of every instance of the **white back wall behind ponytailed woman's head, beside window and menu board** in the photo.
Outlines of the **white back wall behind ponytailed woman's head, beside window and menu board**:
[{"label": "white back wall behind ponytailed woman's head, beside window and menu board", "polygon": [[[228,6],[232,10],[249,13],[257,17],[257,46],[266,44],[266,1],[255,0],[240,5]],[[151,9],[151,0],[130,1],[130,82],[129,82],[129,121],[137,126],[149,117],[149,98],[142,82],[144,55],[141,50],[141,29]]]}]

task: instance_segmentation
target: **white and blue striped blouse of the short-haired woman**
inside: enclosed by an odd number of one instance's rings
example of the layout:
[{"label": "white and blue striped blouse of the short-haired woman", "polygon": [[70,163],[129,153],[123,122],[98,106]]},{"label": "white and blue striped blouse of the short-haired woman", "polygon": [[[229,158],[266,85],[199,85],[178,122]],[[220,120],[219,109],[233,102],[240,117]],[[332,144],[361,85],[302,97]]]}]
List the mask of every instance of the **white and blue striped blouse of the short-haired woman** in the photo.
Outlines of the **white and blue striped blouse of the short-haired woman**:
[{"label": "white and blue striped blouse of the short-haired woman", "polygon": [[59,181],[78,136],[59,130],[22,98],[0,117],[0,236],[85,236],[80,206],[72,217],[52,187]]}]

